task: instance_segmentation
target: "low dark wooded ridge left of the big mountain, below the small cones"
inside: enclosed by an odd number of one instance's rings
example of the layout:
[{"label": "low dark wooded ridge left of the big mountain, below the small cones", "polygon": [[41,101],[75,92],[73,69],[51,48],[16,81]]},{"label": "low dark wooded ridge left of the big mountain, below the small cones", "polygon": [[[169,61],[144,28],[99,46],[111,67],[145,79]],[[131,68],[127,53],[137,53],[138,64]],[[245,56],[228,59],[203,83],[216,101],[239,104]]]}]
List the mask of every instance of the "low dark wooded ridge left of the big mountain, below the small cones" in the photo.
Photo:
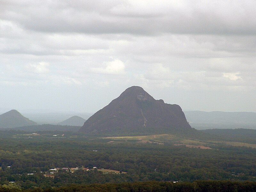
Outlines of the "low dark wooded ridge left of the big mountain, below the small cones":
[{"label": "low dark wooded ridge left of the big mountain, below the small cones", "polygon": [[42,124],[42,125],[30,125],[30,126],[23,126],[23,127],[15,127],[12,130],[29,131],[29,132],[38,132],[38,131],[77,132],[80,128],[81,128],[81,126]]}]

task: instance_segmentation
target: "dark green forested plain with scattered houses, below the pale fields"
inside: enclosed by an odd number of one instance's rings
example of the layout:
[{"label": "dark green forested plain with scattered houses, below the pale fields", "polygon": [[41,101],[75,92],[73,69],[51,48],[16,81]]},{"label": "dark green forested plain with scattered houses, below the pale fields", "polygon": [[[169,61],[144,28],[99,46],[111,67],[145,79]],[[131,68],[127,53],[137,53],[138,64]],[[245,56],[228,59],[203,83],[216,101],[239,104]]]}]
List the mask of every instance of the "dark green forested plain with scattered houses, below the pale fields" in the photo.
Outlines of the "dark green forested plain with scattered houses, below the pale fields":
[{"label": "dark green forested plain with scattered houses, below the pale fields", "polygon": [[[103,186],[106,183],[114,191],[120,191],[118,186],[124,182],[158,181],[169,185],[178,181],[179,185],[186,186],[198,180],[226,180],[242,182],[241,185],[244,181],[256,182],[255,148],[218,144],[211,146],[212,149],[200,149],[175,146],[172,142],[164,145],[136,140],[110,142],[111,139],[64,133],[67,137],[56,138],[52,133],[30,137],[24,132],[9,132],[6,136],[9,138],[2,135],[1,190],[16,186],[22,190],[54,188],[58,191],[60,187],[76,184],[85,186],[86,191],[90,184]],[[61,170],[63,167],[78,167],[79,170],[66,172]],[[83,167],[97,169],[83,171]],[[54,168],[60,168],[54,177],[45,177]],[[100,169],[120,173],[104,173]]]}]

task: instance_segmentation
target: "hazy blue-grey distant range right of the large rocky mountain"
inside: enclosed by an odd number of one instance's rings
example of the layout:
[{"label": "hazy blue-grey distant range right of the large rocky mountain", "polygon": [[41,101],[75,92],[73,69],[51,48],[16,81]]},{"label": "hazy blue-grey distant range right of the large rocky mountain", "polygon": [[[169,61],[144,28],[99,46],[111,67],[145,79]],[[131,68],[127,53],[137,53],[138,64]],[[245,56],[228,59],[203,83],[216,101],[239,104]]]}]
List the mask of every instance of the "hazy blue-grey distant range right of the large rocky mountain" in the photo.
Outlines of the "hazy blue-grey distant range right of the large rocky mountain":
[{"label": "hazy blue-grey distant range right of the large rocky mountain", "polygon": [[189,124],[196,129],[256,129],[256,113],[223,111],[184,111]]}]

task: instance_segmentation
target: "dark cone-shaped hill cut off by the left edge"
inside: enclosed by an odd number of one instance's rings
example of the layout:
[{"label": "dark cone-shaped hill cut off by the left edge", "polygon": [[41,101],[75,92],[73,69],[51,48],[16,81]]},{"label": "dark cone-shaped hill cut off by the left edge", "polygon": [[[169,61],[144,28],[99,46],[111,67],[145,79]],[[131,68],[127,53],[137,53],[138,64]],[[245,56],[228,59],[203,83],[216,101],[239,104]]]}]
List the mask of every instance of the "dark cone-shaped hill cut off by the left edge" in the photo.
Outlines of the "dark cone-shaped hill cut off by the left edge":
[{"label": "dark cone-shaped hill cut off by the left edge", "polygon": [[36,124],[37,123],[22,116],[18,111],[14,109],[0,115],[0,128],[5,129]]}]

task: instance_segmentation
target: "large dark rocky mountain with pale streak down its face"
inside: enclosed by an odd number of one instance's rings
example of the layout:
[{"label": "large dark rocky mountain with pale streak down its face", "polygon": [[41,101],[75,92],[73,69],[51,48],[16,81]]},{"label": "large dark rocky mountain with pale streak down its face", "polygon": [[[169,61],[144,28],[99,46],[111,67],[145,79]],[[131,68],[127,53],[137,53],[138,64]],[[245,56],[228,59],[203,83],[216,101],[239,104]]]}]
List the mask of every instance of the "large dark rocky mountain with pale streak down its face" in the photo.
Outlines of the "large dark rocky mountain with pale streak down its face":
[{"label": "large dark rocky mountain with pale streak down its face", "polygon": [[193,132],[179,105],[155,100],[141,87],[132,86],[92,115],[80,132],[131,134]]}]

